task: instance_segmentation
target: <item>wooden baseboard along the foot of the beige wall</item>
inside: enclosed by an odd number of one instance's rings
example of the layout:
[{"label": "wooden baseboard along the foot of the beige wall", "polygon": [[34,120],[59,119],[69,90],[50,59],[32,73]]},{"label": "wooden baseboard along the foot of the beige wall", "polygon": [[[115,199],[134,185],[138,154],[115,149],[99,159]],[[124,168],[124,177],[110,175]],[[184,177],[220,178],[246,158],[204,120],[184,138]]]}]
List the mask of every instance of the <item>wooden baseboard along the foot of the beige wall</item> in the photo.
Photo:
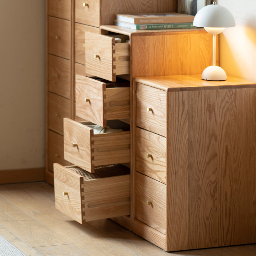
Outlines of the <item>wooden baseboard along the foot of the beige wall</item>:
[{"label": "wooden baseboard along the foot of the beige wall", "polygon": [[45,181],[45,168],[0,170],[0,184]]}]

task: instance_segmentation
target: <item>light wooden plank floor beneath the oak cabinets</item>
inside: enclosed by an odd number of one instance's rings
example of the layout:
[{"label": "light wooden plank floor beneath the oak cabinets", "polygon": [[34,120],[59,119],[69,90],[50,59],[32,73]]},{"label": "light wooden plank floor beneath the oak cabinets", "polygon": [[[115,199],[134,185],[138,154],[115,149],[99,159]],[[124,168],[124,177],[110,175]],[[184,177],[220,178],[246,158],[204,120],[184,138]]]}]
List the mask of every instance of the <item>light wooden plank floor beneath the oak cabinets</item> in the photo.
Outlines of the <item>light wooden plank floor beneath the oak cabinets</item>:
[{"label": "light wooden plank floor beneath the oak cabinets", "polygon": [[0,185],[0,235],[30,256],[255,256],[256,244],[165,252],[109,219],[81,225],[44,182]]}]

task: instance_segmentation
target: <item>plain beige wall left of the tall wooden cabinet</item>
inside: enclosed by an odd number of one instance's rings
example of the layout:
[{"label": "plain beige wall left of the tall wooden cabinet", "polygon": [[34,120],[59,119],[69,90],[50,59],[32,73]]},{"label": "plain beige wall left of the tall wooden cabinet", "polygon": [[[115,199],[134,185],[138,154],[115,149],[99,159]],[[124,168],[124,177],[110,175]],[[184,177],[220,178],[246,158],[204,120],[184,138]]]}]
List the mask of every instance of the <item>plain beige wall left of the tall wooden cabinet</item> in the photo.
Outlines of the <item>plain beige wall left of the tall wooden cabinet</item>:
[{"label": "plain beige wall left of the tall wooden cabinet", "polygon": [[43,167],[45,0],[0,6],[0,170]]}]

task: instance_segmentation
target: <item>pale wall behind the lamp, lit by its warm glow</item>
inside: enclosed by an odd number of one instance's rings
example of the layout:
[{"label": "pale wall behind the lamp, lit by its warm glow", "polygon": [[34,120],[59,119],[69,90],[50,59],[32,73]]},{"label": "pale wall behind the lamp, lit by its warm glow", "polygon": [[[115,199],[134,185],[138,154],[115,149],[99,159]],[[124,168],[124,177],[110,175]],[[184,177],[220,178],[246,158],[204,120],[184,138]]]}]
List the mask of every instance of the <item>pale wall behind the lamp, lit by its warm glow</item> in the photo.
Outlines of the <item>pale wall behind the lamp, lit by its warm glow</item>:
[{"label": "pale wall behind the lamp, lit by its warm glow", "polygon": [[256,1],[217,0],[235,17],[236,26],[219,35],[219,65],[228,75],[256,81]]}]

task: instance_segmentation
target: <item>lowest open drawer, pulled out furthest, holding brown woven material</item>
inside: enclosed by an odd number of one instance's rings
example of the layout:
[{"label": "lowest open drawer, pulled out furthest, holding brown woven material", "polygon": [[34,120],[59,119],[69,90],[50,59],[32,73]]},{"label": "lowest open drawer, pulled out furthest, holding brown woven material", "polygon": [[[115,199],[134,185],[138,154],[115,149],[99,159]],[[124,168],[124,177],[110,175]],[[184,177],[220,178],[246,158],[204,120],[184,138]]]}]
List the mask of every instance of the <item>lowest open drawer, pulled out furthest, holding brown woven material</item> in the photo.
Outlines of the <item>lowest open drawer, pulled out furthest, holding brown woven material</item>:
[{"label": "lowest open drawer, pulled out furthest, holding brown woven material", "polygon": [[77,222],[130,214],[130,174],[122,165],[90,174],[76,166],[54,164],[55,207]]}]

